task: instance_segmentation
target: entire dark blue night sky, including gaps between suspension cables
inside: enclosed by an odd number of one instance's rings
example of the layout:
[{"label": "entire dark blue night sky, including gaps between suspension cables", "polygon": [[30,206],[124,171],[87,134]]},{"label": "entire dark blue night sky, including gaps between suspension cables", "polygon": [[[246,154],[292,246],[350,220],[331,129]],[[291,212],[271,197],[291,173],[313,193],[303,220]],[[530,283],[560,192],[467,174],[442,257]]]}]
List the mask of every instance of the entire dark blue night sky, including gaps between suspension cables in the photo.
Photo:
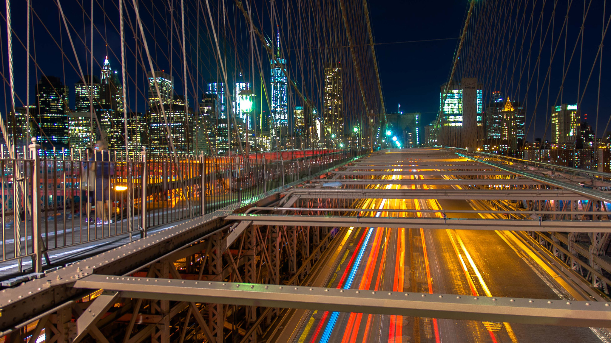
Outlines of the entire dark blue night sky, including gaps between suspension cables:
[{"label": "entire dark blue night sky, including gaps between suspension cables", "polygon": [[[427,125],[431,120],[436,118],[437,111],[439,110],[439,87],[447,81],[452,68],[453,54],[458,43],[457,38],[461,34],[461,29],[464,25],[469,1],[412,2],[386,0],[368,2],[370,7],[371,25],[375,42],[377,44],[376,52],[378,56],[379,73],[381,76],[382,92],[384,93],[387,112],[396,112],[398,103],[401,103],[401,110],[403,112],[421,112],[423,114],[423,120],[420,124]],[[83,18],[82,9],[79,3],[81,2],[74,0],[62,0],[62,4],[64,4],[64,12],[70,20],[71,32],[73,32],[73,40],[75,42],[76,55],[81,61],[81,67],[84,74],[89,74],[89,54],[86,54],[86,49],[79,38],[87,37],[88,42],[89,20],[87,18]],[[128,1],[128,3],[131,4],[131,1]],[[193,4],[193,2],[188,3]],[[231,4],[232,2],[229,1],[227,3]],[[478,4],[494,3],[495,2],[478,2]],[[502,3],[513,4],[514,2],[506,1]],[[527,3],[532,4],[532,1]],[[551,21],[551,6],[553,3],[556,2],[546,2],[547,7],[544,9],[543,18],[544,27],[546,27],[546,25]],[[573,2],[569,1],[569,3]],[[79,73],[75,63],[74,53],[71,49],[68,37],[65,34],[65,29],[63,24],[59,21],[57,5],[54,3],[54,1],[49,0],[32,0],[32,4],[36,11],[33,17],[35,27],[34,34],[32,36],[32,45],[35,44],[36,46],[35,54],[38,67],[40,67],[40,70],[46,74],[59,76],[62,81],[64,81],[64,83],[70,87],[70,105],[73,106],[73,87],[75,82],[79,80]],[[119,15],[116,8],[116,1],[96,0],[95,4],[95,13],[97,13],[97,16],[95,16],[94,21],[97,29],[100,30],[100,32],[94,31],[95,34],[93,37],[93,42],[96,60],[93,65],[93,73],[99,74],[103,57],[106,55],[107,51],[102,39],[104,35],[109,42],[108,51],[112,67],[120,67],[119,36],[116,34],[116,29],[112,26],[111,21],[106,20],[106,23],[104,22],[103,16],[101,15],[100,5],[105,6],[104,11],[108,14],[109,18],[118,18]],[[163,6],[163,3],[156,1],[147,2],[147,4],[149,4],[149,7],[150,4]],[[554,42],[560,42],[560,49],[558,49],[559,52],[552,65],[553,69],[550,83],[551,94],[549,106],[553,105],[552,103],[556,98],[559,85],[562,81],[562,73],[559,71],[562,70],[562,49],[564,47],[564,43],[563,40],[558,40],[558,32],[560,32],[560,27],[562,27],[562,19],[566,13],[567,1],[558,1],[557,4],[558,7],[556,9],[556,13],[558,14],[557,19],[554,22],[554,30],[552,31],[554,34]],[[540,5],[541,2],[537,2],[537,6]],[[573,7],[570,10],[571,13],[569,16],[569,34],[567,43],[568,54],[570,54],[571,49],[576,42],[577,32],[579,32],[579,27],[581,24],[583,6],[583,0],[574,1]],[[598,63],[594,65],[595,68],[592,67],[601,39],[602,22],[607,22],[607,18],[609,18],[611,13],[611,8],[604,9],[603,6],[604,2],[594,1],[585,24],[582,84],[580,86],[582,89],[587,79],[587,74],[590,73],[590,70],[593,70],[594,72],[591,76],[587,93],[584,96],[584,101],[581,104],[581,112],[582,118],[585,117],[585,114],[588,115],[588,122],[591,124],[594,124],[597,107]],[[131,9],[131,6],[129,7],[131,20],[132,23],[134,23],[133,9]],[[89,12],[89,8],[86,10]],[[4,9],[2,9],[2,12],[4,12]],[[527,10],[526,15],[530,15],[528,12],[530,12],[530,9]],[[540,9],[538,8],[534,10],[534,13],[539,12]],[[22,46],[22,43],[25,43],[26,38],[26,24],[24,20],[26,17],[25,1],[13,1],[12,13],[13,28],[16,32],[18,32],[18,37],[13,38],[13,46],[15,49],[15,84],[16,94],[18,96],[16,104],[17,106],[21,106],[26,102],[26,59],[24,58],[25,51]],[[145,18],[147,17],[147,13],[142,13],[142,15]],[[524,14],[521,13],[521,15],[523,16]],[[40,18],[40,20],[38,18]],[[239,23],[241,23],[240,25],[243,25],[243,18],[240,16],[236,16],[235,18],[238,19]],[[150,16],[148,16],[148,20],[150,20]],[[117,22],[117,20],[114,20],[114,24],[118,24]],[[42,23],[44,23],[44,25]],[[104,27],[104,24],[106,24],[107,27]],[[472,27],[474,27],[473,25],[478,24],[481,24],[481,20],[473,21]],[[50,34],[47,32],[47,30],[50,32]],[[60,35],[59,32],[62,32],[62,34]],[[128,32],[128,36],[130,36],[127,37],[127,45],[133,46],[133,37],[131,35],[130,27],[126,26],[126,32]],[[269,35],[269,32],[266,32],[266,35]],[[611,36],[611,33],[609,35]],[[164,42],[162,36],[163,35],[160,35],[160,31],[158,29],[156,32],[156,37],[148,37],[149,44],[155,40],[158,46],[163,48],[163,45],[166,44],[167,41]],[[426,42],[398,43],[420,40]],[[609,40],[609,37],[607,37],[606,40]],[[548,38],[547,43],[550,41],[551,39]],[[63,65],[60,49],[57,44],[63,44],[63,49],[67,56],[67,58],[63,59]],[[507,45],[507,43],[505,44]],[[8,78],[6,60],[6,27],[4,21],[2,21],[2,25],[0,25],[0,46],[2,49],[2,60],[0,61],[3,66],[2,73],[4,74],[5,78]],[[176,46],[177,45],[175,43],[175,48]],[[200,46],[200,48],[202,47]],[[604,131],[611,113],[611,101],[607,101],[607,95],[611,93],[611,82],[607,82],[609,79],[611,79],[611,68],[606,67],[610,58],[608,56],[607,49],[608,47],[604,48],[603,50],[604,60],[601,70],[602,82],[601,103],[599,106],[598,137],[601,137],[603,134],[602,131]],[[543,61],[541,70],[543,71],[547,70],[547,67],[549,66],[549,50],[549,46],[546,46],[546,48],[543,50],[543,54],[541,55],[541,60]],[[201,79],[203,81],[210,81],[212,78],[211,75],[214,74],[214,78],[216,78],[216,62],[214,62],[215,57],[213,54],[214,50],[210,47],[203,47],[202,51],[206,51],[204,54],[209,54],[208,56],[203,57],[210,60],[211,63],[200,65],[202,70]],[[536,42],[535,46],[533,46],[533,51],[533,56],[536,58],[536,52],[538,51],[538,43]],[[34,53],[34,51],[32,51],[32,53]],[[158,52],[154,52],[154,54],[153,60],[158,62],[156,67],[158,69],[166,68],[167,70],[169,66],[167,60],[164,61],[163,56],[160,54],[158,55]],[[138,95],[139,101],[133,101],[134,96],[136,96],[136,91],[134,90],[134,87],[128,87],[128,89],[131,88],[128,93],[128,103],[138,104],[137,110],[144,111],[145,95],[143,93],[146,92],[146,86],[144,85],[145,79],[144,75],[142,74],[142,68],[136,68],[136,63],[133,59],[133,52],[128,51],[127,57],[128,74],[130,74],[130,77],[135,77],[139,80],[139,87],[141,87],[139,91],[142,92],[140,95]],[[70,65],[68,61],[70,61],[72,65]],[[565,98],[563,99],[563,103],[577,103],[577,73],[579,70],[577,62],[578,55],[571,65],[567,75],[564,91]],[[228,60],[228,63],[231,63],[231,59]],[[180,65],[177,63],[177,59],[174,60],[174,66],[177,68],[177,70],[175,70],[173,74],[180,75],[181,70]],[[148,65],[145,67],[148,70]],[[134,69],[138,70],[137,73],[133,72]],[[228,69],[231,73],[232,70],[238,70],[240,67],[229,65]],[[37,79],[40,79],[40,70],[37,70],[37,68],[35,68],[32,64],[30,75],[31,87],[29,90],[30,103],[34,103],[34,85]],[[519,73],[519,71],[520,70],[517,70],[516,73]],[[543,76],[544,72],[541,72],[541,78],[543,78]],[[229,77],[231,78],[232,76],[230,75]],[[460,78],[461,75],[457,74],[456,77]],[[200,82],[203,84],[203,81]],[[510,93],[508,95],[510,95],[512,99],[524,98],[523,91],[521,91],[521,93],[515,91],[513,91],[514,93],[511,93],[512,90],[510,90],[510,87],[507,87],[507,85],[492,84],[493,81],[487,79],[480,79],[479,81],[483,81],[485,83],[485,103],[487,101],[486,98],[489,97],[489,93],[491,93],[492,90],[501,90],[504,93]],[[524,77],[524,79],[522,79],[522,84],[526,83],[527,82],[525,81]],[[0,104],[0,112],[4,117],[8,109],[8,107],[5,106],[7,103],[5,99],[9,99],[10,93],[6,83],[3,85],[3,87],[4,96],[0,97],[0,103],[4,104]],[[255,86],[255,90],[257,90],[256,88],[258,87]],[[532,93],[529,95],[529,103],[526,104],[527,126],[529,126],[529,121],[530,118],[532,118],[532,113],[535,108],[534,90],[536,90],[536,87],[535,83],[533,82],[531,87]],[[546,95],[546,92],[547,90],[543,92],[543,95]],[[177,93],[183,93],[182,89],[177,87]],[[190,95],[189,98],[192,99],[192,96]],[[136,110],[136,108],[131,108],[130,110]],[[537,107],[537,111],[538,115],[535,120],[535,125],[533,126],[536,129],[533,129],[527,134],[527,140],[530,141],[532,141],[534,137],[541,137],[543,135],[543,129],[547,123],[546,115],[549,115],[550,112],[549,107],[547,107],[547,99],[541,99],[539,106]],[[549,139],[549,134],[547,138]]]}]

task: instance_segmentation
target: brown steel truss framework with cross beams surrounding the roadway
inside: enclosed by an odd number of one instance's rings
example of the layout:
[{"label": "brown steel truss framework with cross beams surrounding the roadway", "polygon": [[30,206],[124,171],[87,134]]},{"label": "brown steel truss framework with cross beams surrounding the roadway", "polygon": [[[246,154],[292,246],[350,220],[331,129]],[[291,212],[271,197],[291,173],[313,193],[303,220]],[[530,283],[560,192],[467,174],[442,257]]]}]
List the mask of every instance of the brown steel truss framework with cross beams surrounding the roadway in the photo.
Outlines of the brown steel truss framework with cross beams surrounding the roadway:
[{"label": "brown steel truss framework with cross beams surrounding the roadway", "polygon": [[[603,248],[611,238],[609,179],[510,168],[450,150],[381,151],[4,289],[1,334],[12,341],[44,329],[60,342],[223,342],[228,335],[255,342],[310,309],[611,327]],[[579,186],[586,182],[593,188]],[[384,184],[447,189],[371,187]],[[467,199],[474,209],[354,208],[375,198]],[[573,267],[555,270],[581,295],[561,301],[325,287],[335,265],[326,262],[357,227],[513,231],[533,253],[552,251],[549,265]],[[578,242],[584,234],[589,249]]]}]

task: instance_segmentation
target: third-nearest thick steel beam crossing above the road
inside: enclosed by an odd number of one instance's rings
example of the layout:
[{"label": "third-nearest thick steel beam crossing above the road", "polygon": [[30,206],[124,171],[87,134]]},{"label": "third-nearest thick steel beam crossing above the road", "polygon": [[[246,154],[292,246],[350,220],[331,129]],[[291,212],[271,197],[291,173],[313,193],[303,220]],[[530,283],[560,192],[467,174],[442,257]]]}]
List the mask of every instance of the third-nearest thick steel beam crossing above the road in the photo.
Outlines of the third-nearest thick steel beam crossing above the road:
[{"label": "third-nearest thick steel beam crossing above the road", "polygon": [[449,199],[449,200],[582,200],[564,189],[292,189],[283,193],[307,198],[345,199]]}]

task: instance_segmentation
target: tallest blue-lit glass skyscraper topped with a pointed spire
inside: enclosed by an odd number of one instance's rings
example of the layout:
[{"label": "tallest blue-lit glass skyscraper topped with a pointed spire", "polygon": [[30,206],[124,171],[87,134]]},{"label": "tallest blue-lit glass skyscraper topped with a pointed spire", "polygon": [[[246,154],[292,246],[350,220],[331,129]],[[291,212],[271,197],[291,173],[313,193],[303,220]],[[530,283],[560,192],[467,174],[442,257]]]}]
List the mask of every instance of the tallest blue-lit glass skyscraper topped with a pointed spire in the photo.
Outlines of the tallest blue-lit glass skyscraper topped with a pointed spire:
[{"label": "tallest blue-lit glass skyscraper topped with a pointed spire", "polygon": [[280,138],[282,128],[288,126],[288,98],[287,98],[287,76],[284,70],[287,67],[287,60],[280,58],[280,31],[276,36],[276,59],[271,59],[271,70],[269,73],[271,83],[271,123],[269,128],[272,140]]}]

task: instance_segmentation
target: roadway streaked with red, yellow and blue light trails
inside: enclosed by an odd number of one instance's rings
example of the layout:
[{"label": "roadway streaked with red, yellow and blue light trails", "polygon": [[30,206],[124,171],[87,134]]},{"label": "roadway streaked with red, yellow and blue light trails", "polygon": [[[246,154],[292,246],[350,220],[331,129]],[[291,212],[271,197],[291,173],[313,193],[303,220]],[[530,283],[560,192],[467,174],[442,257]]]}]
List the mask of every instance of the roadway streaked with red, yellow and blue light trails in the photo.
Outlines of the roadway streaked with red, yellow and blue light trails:
[{"label": "roadway streaked with red, yellow and blue light trails", "polygon": [[[370,212],[371,214],[362,213],[363,216],[385,217],[392,212],[384,211],[389,209],[478,209],[474,207],[473,200],[470,200],[472,197],[444,199],[442,196],[442,190],[448,193],[460,192],[463,187],[453,185],[463,182],[447,180],[450,182],[437,184],[438,180],[429,176],[430,171],[419,173],[417,170],[420,167],[410,167],[415,169],[411,173],[393,171],[396,168],[393,164],[406,164],[406,161],[426,165],[424,168],[428,169],[430,161],[452,159],[457,163],[467,163],[467,159],[457,161],[455,156],[445,153],[437,155],[434,150],[427,150],[426,154],[414,155],[411,151],[401,151],[382,156],[388,156],[390,161],[386,171],[381,171],[384,167],[381,166],[383,159],[380,157],[373,159],[375,168],[371,168],[369,172],[360,171],[361,175],[373,175],[379,179],[377,185],[375,179],[363,180],[369,185],[370,193],[366,193],[359,206],[380,209],[379,212]],[[365,169],[365,164],[370,160],[360,162],[359,170]],[[342,172],[349,173],[351,172]],[[465,175],[464,171],[440,171],[435,174]],[[503,173],[499,173],[501,174]],[[411,182],[411,179],[415,182]],[[505,181],[502,180],[499,184],[511,184],[511,180],[507,183]],[[330,191],[333,193],[335,190]],[[427,191],[431,195],[425,197],[426,199],[386,198],[390,192]],[[375,195],[376,192],[380,195]],[[393,214],[395,217],[406,215],[408,214],[405,212]],[[423,217],[435,215],[422,214]],[[494,215],[465,214],[464,217],[492,219]],[[397,219],[400,221],[400,218]],[[275,224],[280,225],[280,222],[282,220]],[[313,222],[309,217],[305,217],[300,225],[309,224]],[[377,292],[532,297],[552,301],[559,301],[577,293],[563,289],[555,283],[544,267],[530,258],[526,251],[521,250],[518,239],[511,231],[495,231],[494,226],[488,226],[485,231],[469,230],[464,226],[455,230],[452,229],[452,224],[444,229],[420,229],[421,226],[409,227],[406,224],[400,227],[398,224],[392,225],[392,228],[353,228],[350,234],[346,234],[348,244],[345,255],[328,262],[329,265],[337,265],[337,272],[329,275],[326,286]],[[296,328],[287,327],[277,342],[601,342],[597,334],[604,334],[596,328],[483,323],[475,320],[332,311],[307,311],[299,317],[298,323]]]}]

